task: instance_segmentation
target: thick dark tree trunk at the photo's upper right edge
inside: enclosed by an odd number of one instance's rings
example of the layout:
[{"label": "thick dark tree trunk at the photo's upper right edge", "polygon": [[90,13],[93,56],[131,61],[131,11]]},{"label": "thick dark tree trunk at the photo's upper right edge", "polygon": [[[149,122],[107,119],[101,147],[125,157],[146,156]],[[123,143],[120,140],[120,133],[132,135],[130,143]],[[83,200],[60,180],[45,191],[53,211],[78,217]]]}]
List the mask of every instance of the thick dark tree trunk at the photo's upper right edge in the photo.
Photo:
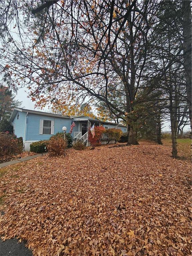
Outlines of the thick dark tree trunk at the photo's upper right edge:
[{"label": "thick dark tree trunk at the photo's upper right edge", "polygon": [[186,80],[186,92],[187,92],[187,103],[189,107],[189,119],[192,129],[192,113],[191,113],[191,6],[188,0],[182,1],[183,4],[183,56],[184,56],[184,69],[185,69],[185,80]]}]

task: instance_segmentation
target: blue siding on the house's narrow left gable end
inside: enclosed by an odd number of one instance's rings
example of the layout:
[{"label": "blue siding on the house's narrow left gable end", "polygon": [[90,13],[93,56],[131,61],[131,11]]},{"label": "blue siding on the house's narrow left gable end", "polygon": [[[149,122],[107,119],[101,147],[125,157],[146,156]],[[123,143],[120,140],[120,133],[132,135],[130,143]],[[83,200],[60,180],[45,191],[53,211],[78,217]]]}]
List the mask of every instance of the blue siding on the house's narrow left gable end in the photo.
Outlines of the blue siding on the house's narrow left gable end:
[{"label": "blue siding on the house's narrow left gable end", "polygon": [[[17,119],[18,113],[19,119]],[[26,112],[18,111],[12,122],[13,125],[15,124],[15,135],[17,136],[17,138],[22,137],[23,140],[25,140],[26,114]]]}]

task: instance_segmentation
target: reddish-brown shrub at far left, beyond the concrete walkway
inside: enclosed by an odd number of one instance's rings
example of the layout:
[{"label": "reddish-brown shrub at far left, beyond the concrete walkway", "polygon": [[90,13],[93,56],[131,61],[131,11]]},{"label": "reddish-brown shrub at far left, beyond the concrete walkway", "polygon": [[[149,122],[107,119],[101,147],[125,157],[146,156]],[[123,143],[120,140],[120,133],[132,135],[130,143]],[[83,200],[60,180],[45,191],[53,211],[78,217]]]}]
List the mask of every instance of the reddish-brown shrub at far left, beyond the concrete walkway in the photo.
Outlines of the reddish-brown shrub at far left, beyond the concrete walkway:
[{"label": "reddish-brown shrub at far left, beyond the concrete walkway", "polygon": [[22,152],[15,135],[9,132],[0,132],[0,156],[11,156]]}]

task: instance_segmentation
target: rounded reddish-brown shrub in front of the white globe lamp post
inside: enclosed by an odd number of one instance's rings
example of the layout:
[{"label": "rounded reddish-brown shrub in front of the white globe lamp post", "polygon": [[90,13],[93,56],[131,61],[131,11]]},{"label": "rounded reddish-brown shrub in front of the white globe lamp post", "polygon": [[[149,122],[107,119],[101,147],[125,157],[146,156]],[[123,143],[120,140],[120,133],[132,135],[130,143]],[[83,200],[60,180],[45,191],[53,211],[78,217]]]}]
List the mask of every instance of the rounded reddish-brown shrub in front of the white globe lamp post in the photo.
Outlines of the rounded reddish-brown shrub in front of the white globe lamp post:
[{"label": "rounded reddish-brown shrub in front of the white globe lamp post", "polygon": [[49,139],[48,152],[51,156],[63,155],[66,147],[67,140],[65,140],[62,136],[52,136]]}]

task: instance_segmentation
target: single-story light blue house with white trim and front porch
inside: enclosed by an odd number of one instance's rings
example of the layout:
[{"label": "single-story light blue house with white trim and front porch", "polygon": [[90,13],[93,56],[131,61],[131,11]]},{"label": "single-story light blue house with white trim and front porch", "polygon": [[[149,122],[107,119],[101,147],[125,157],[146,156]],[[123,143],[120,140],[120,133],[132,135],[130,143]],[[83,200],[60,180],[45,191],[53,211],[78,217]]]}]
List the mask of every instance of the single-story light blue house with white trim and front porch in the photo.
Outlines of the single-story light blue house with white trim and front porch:
[{"label": "single-story light blue house with white trim and front porch", "polygon": [[30,150],[30,144],[35,141],[48,140],[57,132],[62,132],[63,126],[66,126],[67,133],[70,131],[71,121],[74,121],[75,127],[71,133],[74,140],[83,140],[88,143],[88,130],[93,124],[95,126],[104,126],[105,129],[119,128],[123,132],[127,127],[121,124],[104,122],[98,117],[90,114],[89,116],[63,116],[42,111],[35,111],[23,108],[15,108],[11,114],[10,121],[13,124],[14,134],[23,138],[26,151]]}]

